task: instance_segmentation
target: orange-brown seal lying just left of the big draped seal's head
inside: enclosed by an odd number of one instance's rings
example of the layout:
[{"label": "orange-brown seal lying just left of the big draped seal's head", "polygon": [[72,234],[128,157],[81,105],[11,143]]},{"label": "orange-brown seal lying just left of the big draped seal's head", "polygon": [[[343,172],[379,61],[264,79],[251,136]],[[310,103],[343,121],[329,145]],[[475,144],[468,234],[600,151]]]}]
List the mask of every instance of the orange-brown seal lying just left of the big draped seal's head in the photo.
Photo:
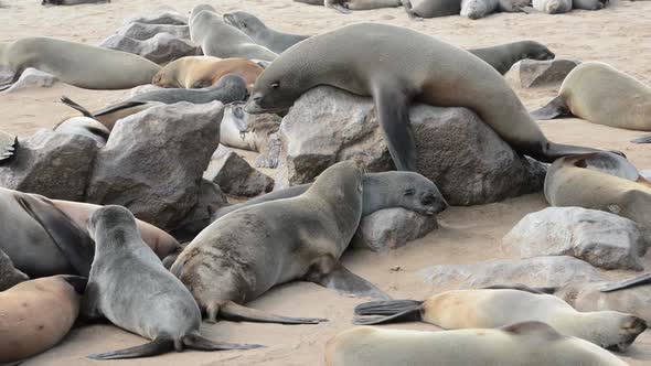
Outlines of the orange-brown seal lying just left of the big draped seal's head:
[{"label": "orange-brown seal lying just left of the big draped seal's head", "polygon": [[215,85],[227,74],[235,74],[253,86],[264,68],[245,58],[222,60],[212,56],[181,57],[166,65],[151,84],[163,88],[204,88]]}]

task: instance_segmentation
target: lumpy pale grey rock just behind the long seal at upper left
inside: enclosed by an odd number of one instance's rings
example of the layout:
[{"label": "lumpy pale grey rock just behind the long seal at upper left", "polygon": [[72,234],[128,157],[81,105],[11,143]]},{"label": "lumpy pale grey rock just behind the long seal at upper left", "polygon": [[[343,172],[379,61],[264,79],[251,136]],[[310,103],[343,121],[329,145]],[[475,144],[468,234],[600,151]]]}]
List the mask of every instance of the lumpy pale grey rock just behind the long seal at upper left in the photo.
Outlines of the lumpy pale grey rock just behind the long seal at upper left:
[{"label": "lumpy pale grey rock just behind the long seal at upper left", "polygon": [[114,34],[104,40],[99,46],[134,53],[157,64],[166,64],[184,56],[201,54],[201,47],[169,33],[158,33],[145,41]]}]

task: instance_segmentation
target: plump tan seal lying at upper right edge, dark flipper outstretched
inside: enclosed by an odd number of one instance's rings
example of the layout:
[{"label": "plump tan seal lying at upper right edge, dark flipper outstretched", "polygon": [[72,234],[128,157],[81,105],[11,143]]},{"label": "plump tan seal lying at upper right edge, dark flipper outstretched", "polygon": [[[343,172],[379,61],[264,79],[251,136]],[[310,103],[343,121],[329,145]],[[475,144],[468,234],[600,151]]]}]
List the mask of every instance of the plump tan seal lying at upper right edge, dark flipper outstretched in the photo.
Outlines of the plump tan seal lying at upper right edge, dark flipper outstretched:
[{"label": "plump tan seal lying at upper right edge, dark flipper outstretched", "polygon": [[576,116],[593,123],[651,131],[651,87],[608,64],[586,62],[567,74],[556,98],[531,115],[535,119]]}]

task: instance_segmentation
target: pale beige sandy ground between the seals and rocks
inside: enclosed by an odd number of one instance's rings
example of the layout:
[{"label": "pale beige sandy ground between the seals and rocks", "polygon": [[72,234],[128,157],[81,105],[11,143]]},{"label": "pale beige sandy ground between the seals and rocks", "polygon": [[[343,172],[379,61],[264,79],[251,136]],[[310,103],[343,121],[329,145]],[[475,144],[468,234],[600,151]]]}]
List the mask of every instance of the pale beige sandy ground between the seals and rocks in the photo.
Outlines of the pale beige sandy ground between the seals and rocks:
[{"label": "pale beige sandy ground between the seals and rocks", "polygon": [[[40,0],[2,0],[0,41],[30,35],[49,35],[97,44],[113,34],[125,18],[151,13],[163,6],[183,12],[200,1],[114,0],[110,4],[74,8],[42,8]],[[213,2],[220,12],[245,10],[268,25],[294,33],[317,34],[360,21],[405,25],[436,35],[462,47],[490,46],[516,40],[536,40],[558,57],[596,60],[612,64],[644,83],[651,84],[651,1],[616,1],[598,12],[574,11],[563,15],[497,14],[472,21],[448,17],[412,22],[402,9],[383,9],[343,15],[333,10],[294,3],[291,0],[221,0]],[[555,96],[552,88],[520,89],[511,82],[525,105],[538,107]],[[67,95],[81,104],[98,108],[122,99],[128,92],[92,92],[57,85],[50,89],[29,89],[0,96],[0,128],[29,136],[39,128],[51,128],[71,110],[56,100]],[[623,151],[640,169],[651,168],[648,146],[628,141],[640,134],[591,125],[577,119],[541,122],[555,141]],[[343,262],[354,272],[376,283],[394,298],[420,299],[446,290],[426,284],[415,272],[439,263],[472,263],[511,258],[500,249],[503,235],[524,215],[542,209],[542,194],[532,194],[501,203],[473,207],[451,207],[439,216],[440,228],[423,239],[389,254],[348,252]],[[645,258],[651,268],[651,255]],[[399,267],[398,271],[392,268]],[[608,273],[615,276],[615,273]],[[617,273],[622,274],[622,273]],[[335,333],[351,326],[352,309],[361,300],[343,298],[316,284],[296,282],[269,291],[250,303],[254,308],[298,316],[328,317],[320,325],[284,326],[222,322],[204,324],[203,333],[217,341],[259,343],[267,348],[247,352],[184,352],[156,358],[124,360],[126,365],[320,365],[323,345]],[[427,324],[401,324],[394,327],[428,329]],[[1,342],[1,341],[0,341]],[[57,347],[23,365],[92,365],[85,358],[129,347],[145,340],[109,325],[77,329]],[[651,365],[651,334],[643,334],[623,355],[631,365]],[[106,365],[118,364],[106,362]]]}]

